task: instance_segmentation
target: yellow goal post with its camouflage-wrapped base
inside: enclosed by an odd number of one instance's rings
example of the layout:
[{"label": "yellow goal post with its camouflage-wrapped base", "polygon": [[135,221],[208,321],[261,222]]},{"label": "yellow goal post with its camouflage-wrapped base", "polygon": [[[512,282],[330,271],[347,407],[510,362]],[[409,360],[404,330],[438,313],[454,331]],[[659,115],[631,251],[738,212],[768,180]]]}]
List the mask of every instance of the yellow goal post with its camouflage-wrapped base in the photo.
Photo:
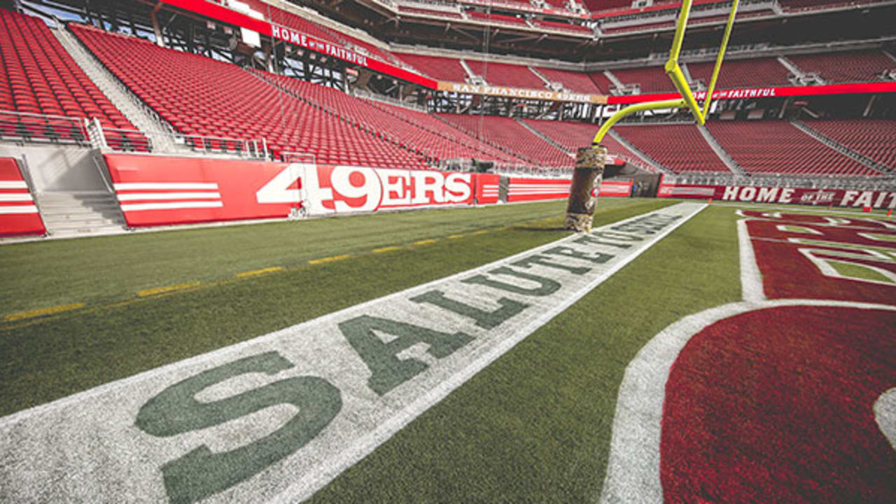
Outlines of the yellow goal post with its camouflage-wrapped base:
[{"label": "yellow goal post with its camouflage-wrapped base", "polygon": [[703,126],[706,124],[706,119],[710,115],[712,94],[716,90],[722,60],[725,58],[725,49],[728,48],[728,39],[731,38],[731,30],[734,27],[734,20],[737,16],[737,5],[740,2],[739,0],[733,0],[731,4],[728,22],[725,25],[725,32],[722,35],[721,45],[719,46],[719,54],[716,56],[716,64],[712,69],[710,85],[707,88],[702,108],[694,97],[694,91],[691,91],[691,86],[687,82],[685,73],[682,72],[681,65],[678,62],[678,56],[681,55],[682,44],[685,41],[685,30],[687,29],[687,19],[691,14],[692,2],[693,0],[684,0],[681,4],[681,11],[678,13],[676,21],[675,36],[672,39],[672,48],[669,50],[669,58],[664,67],[666,74],[669,76],[672,84],[675,85],[681,98],[636,103],[624,109],[619,109],[600,126],[597,135],[594,135],[594,141],[590,147],[579,149],[576,166],[573,170],[569,203],[566,207],[566,220],[564,222],[566,229],[586,232],[591,229],[594,210],[597,207],[597,191],[599,191],[598,187],[607,160],[607,148],[601,143],[610,128],[616,125],[620,119],[645,110],[689,109],[698,125]]}]

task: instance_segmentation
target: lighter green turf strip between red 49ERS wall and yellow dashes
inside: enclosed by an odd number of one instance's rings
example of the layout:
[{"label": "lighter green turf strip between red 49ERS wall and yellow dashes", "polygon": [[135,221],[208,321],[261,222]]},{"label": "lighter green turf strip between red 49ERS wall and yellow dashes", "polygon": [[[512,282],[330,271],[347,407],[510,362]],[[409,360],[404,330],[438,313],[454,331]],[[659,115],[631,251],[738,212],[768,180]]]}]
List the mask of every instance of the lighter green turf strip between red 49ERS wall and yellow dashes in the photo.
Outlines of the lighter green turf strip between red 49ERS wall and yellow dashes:
[{"label": "lighter green turf strip between red 49ERS wall and yellow dashes", "polygon": [[[646,200],[605,200],[613,209]],[[184,282],[217,282],[241,272],[305,265],[476,230],[556,217],[564,202],[380,213],[0,247],[0,319],[36,308],[106,303]]]}]

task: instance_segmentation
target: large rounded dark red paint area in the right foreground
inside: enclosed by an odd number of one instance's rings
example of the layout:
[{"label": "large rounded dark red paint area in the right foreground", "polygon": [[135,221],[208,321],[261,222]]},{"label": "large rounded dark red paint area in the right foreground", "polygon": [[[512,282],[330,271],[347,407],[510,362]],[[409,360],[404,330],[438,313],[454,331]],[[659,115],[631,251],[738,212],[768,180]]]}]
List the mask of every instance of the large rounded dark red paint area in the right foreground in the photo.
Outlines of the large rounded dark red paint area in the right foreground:
[{"label": "large rounded dark red paint area in the right foreground", "polygon": [[896,313],[765,308],[695,335],[666,386],[666,502],[893,502],[874,401],[896,387]]}]

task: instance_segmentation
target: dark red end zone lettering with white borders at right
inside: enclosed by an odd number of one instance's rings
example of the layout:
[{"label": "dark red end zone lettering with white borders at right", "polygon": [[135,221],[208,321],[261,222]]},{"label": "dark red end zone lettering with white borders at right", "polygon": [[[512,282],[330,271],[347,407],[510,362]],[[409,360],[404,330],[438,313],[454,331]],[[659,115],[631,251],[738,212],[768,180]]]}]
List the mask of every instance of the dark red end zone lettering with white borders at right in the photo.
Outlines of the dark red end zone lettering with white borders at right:
[{"label": "dark red end zone lettering with white borders at right", "polygon": [[747,300],[629,364],[601,501],[892,501],[896,229],[739,213]]}]

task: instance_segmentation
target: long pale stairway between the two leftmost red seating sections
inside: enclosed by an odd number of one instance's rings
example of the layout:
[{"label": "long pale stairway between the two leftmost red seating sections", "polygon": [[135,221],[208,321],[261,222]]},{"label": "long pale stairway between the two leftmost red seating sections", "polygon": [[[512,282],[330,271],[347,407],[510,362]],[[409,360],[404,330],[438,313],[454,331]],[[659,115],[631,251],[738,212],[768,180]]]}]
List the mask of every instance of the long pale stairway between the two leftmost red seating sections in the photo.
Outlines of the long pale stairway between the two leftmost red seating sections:
[{"label": "long pale stairway between the two leftmost red seating sections", "polygon": [[151,136],[151,142],[157,150],[174,152],[176,143],[172,135],[166,131],[168,128],[158,118],[151,116],[133,92],[125,88],[125,85],[118,81],[96,56],[90,54],[71,32],[65,28],[56,28],[50,31],[72,56],[74,62],[82,68],[84,74],[87,74],[90,80],[97,85],[99,91],[103,91],[121,113],[134,126],[137,126],[137,129]]}]

